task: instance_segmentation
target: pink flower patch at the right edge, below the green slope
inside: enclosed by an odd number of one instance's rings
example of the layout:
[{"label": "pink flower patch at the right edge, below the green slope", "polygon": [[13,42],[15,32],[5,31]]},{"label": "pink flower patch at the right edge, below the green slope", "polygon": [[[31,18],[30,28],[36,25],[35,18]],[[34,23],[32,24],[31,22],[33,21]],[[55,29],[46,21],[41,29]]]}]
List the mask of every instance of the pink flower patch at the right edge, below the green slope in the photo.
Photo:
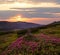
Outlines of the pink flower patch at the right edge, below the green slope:
[{"label": "pink flower patch at the right edge, below the green slope", "polygon": [[60,43],[60,38],[40,34],[40,38],[44,39],[46,42],[51,41],[53,43]]}]

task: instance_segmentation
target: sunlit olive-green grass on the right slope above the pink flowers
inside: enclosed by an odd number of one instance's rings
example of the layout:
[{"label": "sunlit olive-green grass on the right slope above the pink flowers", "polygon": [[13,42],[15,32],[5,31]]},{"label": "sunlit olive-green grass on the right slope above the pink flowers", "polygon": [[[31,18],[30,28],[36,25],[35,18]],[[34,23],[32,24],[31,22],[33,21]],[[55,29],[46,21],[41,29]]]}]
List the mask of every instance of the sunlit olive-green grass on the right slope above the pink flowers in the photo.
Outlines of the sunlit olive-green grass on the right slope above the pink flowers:
[{"label": "sunlit olive-green grass on the right slope above the pink flowers", "polygon": [[40,33],[60,37],[60,25],[56,27],[49,27],[49,28],[41,29]]}]

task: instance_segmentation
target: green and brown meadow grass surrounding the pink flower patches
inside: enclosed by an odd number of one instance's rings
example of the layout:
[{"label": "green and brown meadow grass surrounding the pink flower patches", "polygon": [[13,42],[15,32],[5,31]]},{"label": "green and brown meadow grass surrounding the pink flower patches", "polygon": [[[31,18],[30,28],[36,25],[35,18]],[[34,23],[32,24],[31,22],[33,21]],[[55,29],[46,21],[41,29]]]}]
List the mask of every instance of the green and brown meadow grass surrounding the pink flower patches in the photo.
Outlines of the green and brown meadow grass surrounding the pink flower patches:
[{"label": "green and brown meadow grass surrounding the pink flower patches", "polygon": [[[29,41],[38,42],[37,48],[35,48],[34,52],[32,52],[31,48],[24,44],[25,43],[24,41],[24,43],[22,43],[21,46],[22,49],[16,47],[9,55],[14,55],[15,53],[19,53],[21,55],[24,54],[25,55],[59,55],[60,43],[54,43],[53,41],[45,42],[44,39],[41,38],[39,39],[38,34],[40,35],[41,33],[48,35],[50,37],[60,38],[60,25],[47,27],[47,28],[31,28],[31,29],[18,30],[18,31],[6,32],[6,33],[0,32],[0,53],[5,51],[5,49],[7,49],[9,45],[11,45],[14,41],[16,41],[17,39],[23,36],[25,41],[27,42]],[[27,48],[29,48],[28,51]]]}]

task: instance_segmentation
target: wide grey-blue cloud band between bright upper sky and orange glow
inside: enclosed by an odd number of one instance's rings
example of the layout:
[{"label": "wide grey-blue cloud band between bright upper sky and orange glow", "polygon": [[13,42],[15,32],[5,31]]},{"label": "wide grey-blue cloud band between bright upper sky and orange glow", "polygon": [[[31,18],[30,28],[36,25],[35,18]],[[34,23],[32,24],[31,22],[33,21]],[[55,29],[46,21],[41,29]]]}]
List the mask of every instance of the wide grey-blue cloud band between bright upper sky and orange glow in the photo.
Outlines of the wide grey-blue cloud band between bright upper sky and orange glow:
[{"label": "wide grey-blue cloud band between bright upper sky and orange glow", "polygon": [[0,11],[0,17],[8,19],[18,14],[26,18],[60,18],[60,8],[13,8],[16,10]]}]

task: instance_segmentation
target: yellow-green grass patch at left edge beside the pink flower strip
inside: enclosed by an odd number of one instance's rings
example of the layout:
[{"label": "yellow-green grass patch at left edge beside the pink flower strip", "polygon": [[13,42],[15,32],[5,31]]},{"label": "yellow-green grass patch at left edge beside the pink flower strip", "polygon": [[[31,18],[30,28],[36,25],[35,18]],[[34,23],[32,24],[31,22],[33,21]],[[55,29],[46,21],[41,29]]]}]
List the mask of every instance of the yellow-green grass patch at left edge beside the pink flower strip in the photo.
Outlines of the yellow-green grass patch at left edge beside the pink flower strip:
[{"label": "yellow-green grass patch at left edge beside the pink flower strip", "polygon": [[17,34],[5,34],[0,36],[0,52],[17,39]]}]

